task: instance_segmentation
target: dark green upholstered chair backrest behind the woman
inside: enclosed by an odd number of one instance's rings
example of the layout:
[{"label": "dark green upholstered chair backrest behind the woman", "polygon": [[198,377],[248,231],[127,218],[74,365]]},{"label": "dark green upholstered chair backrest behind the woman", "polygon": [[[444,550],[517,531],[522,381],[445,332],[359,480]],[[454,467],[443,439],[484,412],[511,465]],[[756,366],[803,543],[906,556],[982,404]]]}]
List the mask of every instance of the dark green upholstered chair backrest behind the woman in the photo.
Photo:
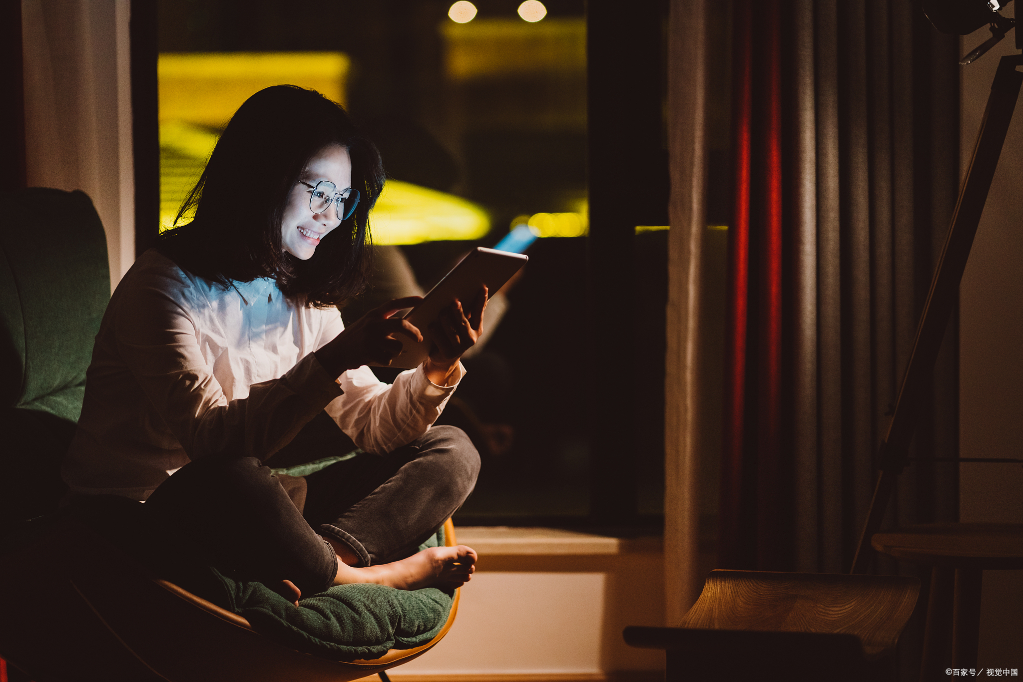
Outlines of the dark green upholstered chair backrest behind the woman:
[{"label": "dark green upholstered chair backrest behind the woman", "polygon": [[110,298],[106,238],[81,191],[0,194],[0,528],[45,513]]}]

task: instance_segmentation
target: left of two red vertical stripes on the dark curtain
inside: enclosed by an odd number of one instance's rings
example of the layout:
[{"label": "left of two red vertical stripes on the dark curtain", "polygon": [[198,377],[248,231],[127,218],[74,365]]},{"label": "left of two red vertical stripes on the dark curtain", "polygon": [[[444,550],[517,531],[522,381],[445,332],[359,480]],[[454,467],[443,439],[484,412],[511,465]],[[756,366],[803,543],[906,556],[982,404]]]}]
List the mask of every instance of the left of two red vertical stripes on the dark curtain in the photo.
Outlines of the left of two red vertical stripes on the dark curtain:
[{"label": "left of two red vertical stripes on the dark curtain", "polygon": [[753,112],[751,0],[735,3],[732,44],[733,212],[728,226],[728,312],[725,350],[724,438],[721,458],[718,565],[741,562],[746,334],[749,300],[750,163]]}]

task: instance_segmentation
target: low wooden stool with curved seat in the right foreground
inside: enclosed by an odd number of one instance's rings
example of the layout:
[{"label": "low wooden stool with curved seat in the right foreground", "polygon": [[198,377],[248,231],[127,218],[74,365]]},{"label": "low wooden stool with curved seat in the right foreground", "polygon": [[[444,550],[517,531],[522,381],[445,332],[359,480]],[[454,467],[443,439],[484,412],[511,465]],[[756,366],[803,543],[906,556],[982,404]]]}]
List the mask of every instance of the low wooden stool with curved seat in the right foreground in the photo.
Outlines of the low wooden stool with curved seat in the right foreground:
[{"label": "low wooden stool with curved seat in the right foreground", "polygon": [[667,682],[888,679],[919,591],[900,576],[712,571],[680,627],[623,635],[665,650]]}]

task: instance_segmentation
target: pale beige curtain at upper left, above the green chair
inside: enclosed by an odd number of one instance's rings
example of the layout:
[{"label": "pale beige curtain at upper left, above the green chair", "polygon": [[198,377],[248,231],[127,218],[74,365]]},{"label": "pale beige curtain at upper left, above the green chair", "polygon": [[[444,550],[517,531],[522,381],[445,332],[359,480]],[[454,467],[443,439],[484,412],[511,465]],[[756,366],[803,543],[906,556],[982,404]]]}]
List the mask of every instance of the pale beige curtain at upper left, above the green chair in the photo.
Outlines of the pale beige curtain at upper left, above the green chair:
[{"label": "pale beige curtain at upper left, above the green chair", "polygon": [[81,189],[110,284],[135,261],[129,0],[21,0],[29,186]]}]

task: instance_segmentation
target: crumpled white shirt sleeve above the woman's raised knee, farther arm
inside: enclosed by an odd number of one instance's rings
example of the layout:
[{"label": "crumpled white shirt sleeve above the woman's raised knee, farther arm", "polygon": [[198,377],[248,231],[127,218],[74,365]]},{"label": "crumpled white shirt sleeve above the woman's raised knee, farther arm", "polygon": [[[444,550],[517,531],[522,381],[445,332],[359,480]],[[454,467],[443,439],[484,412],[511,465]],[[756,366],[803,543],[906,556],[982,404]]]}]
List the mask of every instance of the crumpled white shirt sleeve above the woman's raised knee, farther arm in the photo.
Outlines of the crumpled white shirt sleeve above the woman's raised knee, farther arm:
[{"label": "crumpled white shirt sleeve above the woman's raised knee, farther arm", "polygon": [[[317,348],[344,329],[340,315],[330,318]],[[458,363],[451,385],[440,387],[427,377],[420,365],[399,374],[394,383],[384,383],[363,365],[338,378],[344,394],[330,401],[326,412],[362,450],[386,454],[430,429],[464,374],[465,368]]]}]

